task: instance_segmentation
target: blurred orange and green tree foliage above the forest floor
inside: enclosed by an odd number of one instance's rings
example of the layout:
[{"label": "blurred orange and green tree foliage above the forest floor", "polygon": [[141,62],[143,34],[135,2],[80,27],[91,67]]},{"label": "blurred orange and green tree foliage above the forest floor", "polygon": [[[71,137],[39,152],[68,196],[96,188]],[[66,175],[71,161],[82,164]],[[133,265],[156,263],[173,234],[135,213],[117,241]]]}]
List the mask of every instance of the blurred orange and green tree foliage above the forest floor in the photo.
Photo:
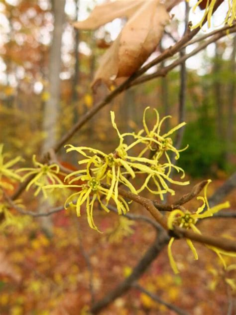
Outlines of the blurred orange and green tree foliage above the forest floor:
[{"label": "blurred orange and green tree foliage above the forest floor", "polygon": [[[95,4],[96,1],[92,0],[82,1],[81,6],[88,14]],[[67,1],[67,18],[76,19],[78,11],[75,5],[75,1]],[[6,143],[5,148],[11,152],[21,152],[26,159],[40,152],[46,138],[42,119],[43,108],[49,98],[51,10],[50,1],[46,0],[0,2],[3,30],[0,48],[0,142]],[[181,18],[178,23],[181,25]],[[176,23],[174,27],[172,31],[177,33],[179,25]],[[92,34],[90,31],[74,30],[71,24],[65,23],[58,139],[93,106],[96,97],[101,99],[101,95],[92,95],[90,83],[100,56],[110,45],[111,37],[115,36],[113,28],[109,32],[108,28],[101,27]],[[76,36],[79,36],[77,46]],[[162,42],[168,45],[171,39],[165,35]],[[189,144],[189,149],[182,154],[179,164],[191,176],[221,176],[222,171],[232,170],[236,160],[235,112],[233,126],[229,126],[228,119],[232,104],[235,107],[234,45],[233,36],[224,38],[210,45],[198,57],[199,67],[194,65],[195,57],[187,64],[187,127],[183,146]],[[141,127],[140,113],[146,106],[157,108],[161,115],[172,115],[171,124],[176,124],[178,90],[177,69],[166,78],[155,79],[124,92],[112,105],[98,113],[80,134],[74,136],[73,143],[108,146],[110,150],[112,140],[107,141],[106,135],[114,133],[108,123],[111,107],[116,112],[121,131],[127,130],[126,123],[129,131]],[[61,154],[64,155],[63,152]]]}]

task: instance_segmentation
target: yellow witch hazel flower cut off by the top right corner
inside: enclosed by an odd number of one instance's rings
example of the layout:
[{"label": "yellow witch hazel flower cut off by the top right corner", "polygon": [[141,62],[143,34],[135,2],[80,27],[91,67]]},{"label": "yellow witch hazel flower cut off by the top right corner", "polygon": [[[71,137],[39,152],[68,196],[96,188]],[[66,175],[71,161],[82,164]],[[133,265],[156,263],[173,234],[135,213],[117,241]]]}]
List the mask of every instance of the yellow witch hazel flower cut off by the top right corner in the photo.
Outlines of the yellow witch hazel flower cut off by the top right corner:
[{"label": "yellow witch hazel flower cut off by the top right corner", "polygon": [[[198,6],[201,7],[202,2],[204,2],[204,4],[203,4],[204,5],[203,8],[205,8],[204,14],[203,14],[200,22],[197,23],[196,25],[194,25],[192,27],[192,29],[197,28],[197,27],[202,27],[203,21],[206,17],[207,17],[208,28],[211,27],[211,18],[212,18],[213,9],[214,9],[214,6],[215,6],[217,0],[199,0],[194,5],[193,12],[196,10],[196,8]],[[223,2],[223,0],[222,0],[222,2]],[[222,23],[225,23],[225,24],[232,26],[234,21],[236,20],[236,0],[228,0],[225,2],[227,2],[227,4],[228,4],[228,11],[227,11],[226,17]]]}]

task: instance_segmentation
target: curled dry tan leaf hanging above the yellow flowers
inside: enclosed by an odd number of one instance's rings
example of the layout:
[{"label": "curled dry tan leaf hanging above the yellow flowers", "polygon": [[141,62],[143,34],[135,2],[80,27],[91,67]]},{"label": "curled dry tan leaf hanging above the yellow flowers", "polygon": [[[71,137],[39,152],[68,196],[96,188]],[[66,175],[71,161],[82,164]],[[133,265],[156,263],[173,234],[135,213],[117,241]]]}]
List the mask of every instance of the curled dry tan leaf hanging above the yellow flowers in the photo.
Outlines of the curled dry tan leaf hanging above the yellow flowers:
[{"label": "curled dry tan leaf hanging above the yellow flowers", "polygon": [[132,75],[155,50],[170,19],[159,0],[117,0],[96,6],[86,20],[74,25],[80,29],[96,29],[117,17],[128,20],[101,58],[92,83],[94,90],[101,81],[111,87],[116,80]]}]

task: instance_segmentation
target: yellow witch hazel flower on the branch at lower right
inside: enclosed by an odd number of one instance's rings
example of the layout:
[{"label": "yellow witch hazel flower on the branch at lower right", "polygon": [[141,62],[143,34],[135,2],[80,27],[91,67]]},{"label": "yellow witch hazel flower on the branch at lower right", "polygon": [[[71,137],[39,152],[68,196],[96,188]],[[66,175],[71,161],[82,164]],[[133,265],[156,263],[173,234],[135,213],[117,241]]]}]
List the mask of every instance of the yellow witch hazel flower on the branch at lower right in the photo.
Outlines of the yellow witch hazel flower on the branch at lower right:
[{"label": "yellow witch hazel flower on the branch at lower right", "polygon": [[[168,217],[168,221],[167,221],[168,228],[170,230],[172,230],[174,228],[174,226],[177,225],[177,226],[184,228],[184,229],[192,229],[194,232],[201,234],[201,231],[196,227],[196,223],[199,219],[211,217],[211,216],[213,216],[214,213],[217,213],[218,211],[220,211],[222,209],[230,207],[230,203],[228,201],[221,203],[221,204],[218,204],[212,208],[209,207],[209,203],[207,200],[207,187],[208,187],[210,182],[211,182],[211,180],[209,179],[208,183],[204,187],[204,197],[201,197],[201,196],[197,197],[198,200],[203,201],[203,204],[201,207],[198,208],[198,210],[196,212],[192,213],[188,210],[182,211],[180,209],[176,209],[176,210],[171,211],[171,213],[169,214],[169,217]],[[207,208],[206,211],[204,211],[205,208]],[[173,258],[172,252],[171,252],[171,246],[172,246],[174,240],[175,240],[175,238],[172,237],[169,241],[168,256],[169,256],[170,265],[171,265],[173,271],[175,273],[179,273],[179,270],[177,268],[177,265],[175,263],[175,260]],[[197,260],[198,259],[198,253],[197,253],[192,241],[190,239],[186,239],[186,242],[187,242],[188,246],[190,247],[190,249],[192,250],[194,258]],[[226,263],[225,263],[224,258],[222,257],[222,254],[236,257],[235,253],[226,252],[224,250],[221,250],[219,248],[209,246],[209,245],[206,245],[206,246],[208,248],[210,248],[211,250],[213,250],[214,252],[216,252],[216,254],[220,258],[220,260],[223,263],[225,268],[226,268]]]}]

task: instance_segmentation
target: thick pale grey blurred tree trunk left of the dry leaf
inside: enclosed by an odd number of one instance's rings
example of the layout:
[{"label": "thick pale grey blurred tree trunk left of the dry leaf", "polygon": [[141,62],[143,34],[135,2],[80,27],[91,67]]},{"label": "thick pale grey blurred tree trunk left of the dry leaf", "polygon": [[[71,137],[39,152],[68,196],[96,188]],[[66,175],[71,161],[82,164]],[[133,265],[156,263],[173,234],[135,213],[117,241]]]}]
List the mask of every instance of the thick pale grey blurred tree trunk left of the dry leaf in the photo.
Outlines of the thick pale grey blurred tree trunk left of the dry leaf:
[{"label": "thick pale grey blurred tree trunk left of the dry leaf", "polygon": [[[54,30],[52,45],[49,56],[49,98],[44,106],[43,114],[43,131],[47,133],[47,138],[42,145],[42,153],[46,153],[52,148],[57,140],[57,122],[59,116],[60,102],[60,71],[61,71],[61,43],[64,24],[64,7],[65,0],[54,0]],[[47,200],[41,200],[40,211],[45,211],[49,206]],[[52,234],[52,218],[51,216],[42,217],[41,225],[43,230],[48,234]]]}]

